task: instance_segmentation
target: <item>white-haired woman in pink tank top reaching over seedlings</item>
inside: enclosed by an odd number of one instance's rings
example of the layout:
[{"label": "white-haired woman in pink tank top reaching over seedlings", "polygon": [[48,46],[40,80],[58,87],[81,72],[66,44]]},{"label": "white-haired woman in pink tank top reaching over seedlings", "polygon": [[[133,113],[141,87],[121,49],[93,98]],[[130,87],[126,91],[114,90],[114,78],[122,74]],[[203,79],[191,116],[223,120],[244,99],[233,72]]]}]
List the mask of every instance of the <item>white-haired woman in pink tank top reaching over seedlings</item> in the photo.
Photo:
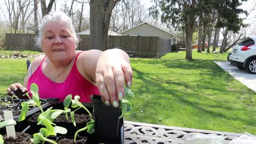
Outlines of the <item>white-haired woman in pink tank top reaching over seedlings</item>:
[{"label": "white-haired woman in pink tank top reaching over seedlings", "polygon": [[81,102],[91,102],[90,95],[100,94],[106,105],[118,107],[118,99],[124,97],[124,81],[127,86],[132,83],[129,55],[124,51],[77,51],[74,26],[62,12],[45,15],[37,43],[45,56],[34,59],[23,85],[11,84],[9,94],[18,89],[25,93],[36,83],[41,98],[63,101],[72,94],[79,95]]}]

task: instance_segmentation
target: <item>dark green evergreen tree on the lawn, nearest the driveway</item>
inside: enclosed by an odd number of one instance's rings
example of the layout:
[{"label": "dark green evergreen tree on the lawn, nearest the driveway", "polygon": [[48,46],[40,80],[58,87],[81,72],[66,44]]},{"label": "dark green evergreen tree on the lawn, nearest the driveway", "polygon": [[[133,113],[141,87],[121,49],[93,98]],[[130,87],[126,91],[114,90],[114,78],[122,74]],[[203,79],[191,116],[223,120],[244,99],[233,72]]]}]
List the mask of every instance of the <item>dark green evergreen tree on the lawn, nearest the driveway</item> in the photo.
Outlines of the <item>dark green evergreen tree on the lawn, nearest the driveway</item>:
[{"label": "dark green evergreen tree on the lawn, nearest the driveway", "polygon": [[[233,26],[232,29],[237,30],[239,28],[236,22],[240,21],[238,15],[245,12],[237,8],[241,5],[239,0],[154,0],[154,2],[155,5],[149,9],[153,17],[158,17],[159,11],[161,11],[161,20],[163,22],[171,21],[173,27],[185,30],[187,40],[186,59],[188,60],[192,59],[191,41],[199,14],[207,14],[211,13],[212,10],[216,10],[217,16],[221,17],[221,20],[224,21],[217,22],[217,28],[227,25],[230,28]],[[228,25],[228,22],[230,25]]]}]

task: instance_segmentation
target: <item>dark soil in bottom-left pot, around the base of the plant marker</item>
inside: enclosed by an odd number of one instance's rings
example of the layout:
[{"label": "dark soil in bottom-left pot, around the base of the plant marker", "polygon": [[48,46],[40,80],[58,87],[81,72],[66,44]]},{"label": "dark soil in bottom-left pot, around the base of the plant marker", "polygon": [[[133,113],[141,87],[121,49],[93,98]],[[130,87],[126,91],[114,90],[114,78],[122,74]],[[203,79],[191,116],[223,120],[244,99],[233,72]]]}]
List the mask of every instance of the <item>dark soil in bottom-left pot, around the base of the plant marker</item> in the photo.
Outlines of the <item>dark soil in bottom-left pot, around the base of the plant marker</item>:
[{"label": "dark soil in bottom-left pot, around the base of the plant marker", "polygon": [[30,134],[27,133],[21,133],[17,132],[16,133],[16,139],[13,137],[10,137],[9,139],[7,138],[6,135],[4,135],[4,142],[5,144],[31,144],[32,142],[29,140]]}]

